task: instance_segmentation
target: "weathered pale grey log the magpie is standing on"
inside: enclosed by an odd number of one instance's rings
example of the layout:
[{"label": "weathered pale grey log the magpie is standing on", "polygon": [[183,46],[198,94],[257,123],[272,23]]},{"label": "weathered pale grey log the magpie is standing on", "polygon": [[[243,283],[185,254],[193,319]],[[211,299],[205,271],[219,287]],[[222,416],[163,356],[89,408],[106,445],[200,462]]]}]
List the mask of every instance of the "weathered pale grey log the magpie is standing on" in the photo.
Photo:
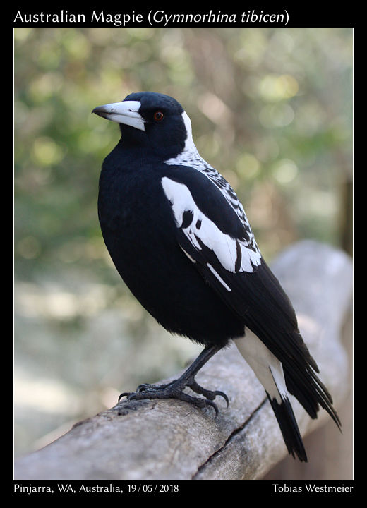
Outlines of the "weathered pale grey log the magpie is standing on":
[{"label": "weathered pale grey log the magpie is standing on", "polygon": [[[351,260],[313,241],[282,253],[272,269],[289,294],[299,327],[338,407],[348,389],[340,330],[351,302]],[[285,455],[282,435],[263,387],[235,346],[220,351],[198,374],[220,389],[219,416],[177,400],[124,401],[82,421],[47,447],[16,461],[17,479],[262,478]],[[292,397],[302,435],[311,421]]]}]

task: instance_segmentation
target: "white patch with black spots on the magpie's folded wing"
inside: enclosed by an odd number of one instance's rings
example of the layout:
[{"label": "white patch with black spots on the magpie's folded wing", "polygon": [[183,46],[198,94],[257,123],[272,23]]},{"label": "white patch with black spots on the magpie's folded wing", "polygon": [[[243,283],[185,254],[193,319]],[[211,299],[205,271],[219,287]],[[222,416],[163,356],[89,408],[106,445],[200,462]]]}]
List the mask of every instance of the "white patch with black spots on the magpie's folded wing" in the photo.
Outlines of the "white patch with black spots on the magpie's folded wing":
[{"label": "white patch with black spots on the magpie's folded wing", "polygon": [[[207,248],[212,249],[222,267],[229,272],[253,272],[253,265],[260,265],[260,253],[248,248],[244,241],[231,238],[220,231],[216,224],[200,211],[186,185],[164,176],[162,187],[172,205],[176,226],[182,229],[196,250],[202,250],[200,242],[204,243]],[[230,291],[214,268],[209,264],[207,266]]]}]

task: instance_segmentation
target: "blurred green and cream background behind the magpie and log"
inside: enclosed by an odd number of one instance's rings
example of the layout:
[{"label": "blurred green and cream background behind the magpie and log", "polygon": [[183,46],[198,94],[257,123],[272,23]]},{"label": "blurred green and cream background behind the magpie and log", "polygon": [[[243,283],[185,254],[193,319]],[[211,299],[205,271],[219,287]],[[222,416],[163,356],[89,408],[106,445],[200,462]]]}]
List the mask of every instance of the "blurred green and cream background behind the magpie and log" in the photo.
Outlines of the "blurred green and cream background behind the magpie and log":
[{"label": "blurred green and cream background behind the magpie and log", "polygon": [[200,350],[157,325],[109,260],[97,189],[119,128],[90,111],[140,90],[174,96],[269,262],[301,238],[351,253],[352,36],[14,30],[16,456]]}]

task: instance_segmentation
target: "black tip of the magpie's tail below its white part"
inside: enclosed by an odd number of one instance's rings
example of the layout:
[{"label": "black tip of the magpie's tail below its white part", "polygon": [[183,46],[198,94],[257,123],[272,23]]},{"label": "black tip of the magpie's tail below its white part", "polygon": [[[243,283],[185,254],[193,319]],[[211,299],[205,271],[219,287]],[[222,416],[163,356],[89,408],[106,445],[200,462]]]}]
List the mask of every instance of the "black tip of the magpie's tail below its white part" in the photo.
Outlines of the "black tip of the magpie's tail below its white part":
[{"label": "black tip of the magpie's tail below its white part", "polygon": [[279,428],[282,431],[284,442],[287,446],[288,453],[293,456],[296,454],[300,461],[307,462],[306,450],[303,446],[299,427],[294,416],[293,409],[289,399],[282,399],[282,403],[278,404],[276,399],[272,399],[267,393],[272,409],[277,418]]}]

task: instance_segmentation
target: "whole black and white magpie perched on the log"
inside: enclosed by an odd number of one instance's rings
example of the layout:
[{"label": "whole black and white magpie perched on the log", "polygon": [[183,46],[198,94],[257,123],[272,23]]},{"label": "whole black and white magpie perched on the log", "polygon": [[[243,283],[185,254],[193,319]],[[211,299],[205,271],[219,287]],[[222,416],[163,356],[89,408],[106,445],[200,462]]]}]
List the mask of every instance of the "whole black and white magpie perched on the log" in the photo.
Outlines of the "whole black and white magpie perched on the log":
[{"label": "whole black and white magpie perched on the log", "polygon": [[[92,112],[121,129],[104,159],[98,196],[114,265],[165,329],[204,346],[178,380],[140,385],[121,396],[174,397],[217,411],[213,400],[227,396],[200,387],[195,375],[234,339],[265,388],[289,454],[307,461],[289,393],[311,418],[321,406],[338,427],[340,421],[233,188],[200,157],[191,121],[176,99],[138,92]],[[246,337],[246,327],[256,338]],[[191,397],[185,387],[204,398]]]}]

